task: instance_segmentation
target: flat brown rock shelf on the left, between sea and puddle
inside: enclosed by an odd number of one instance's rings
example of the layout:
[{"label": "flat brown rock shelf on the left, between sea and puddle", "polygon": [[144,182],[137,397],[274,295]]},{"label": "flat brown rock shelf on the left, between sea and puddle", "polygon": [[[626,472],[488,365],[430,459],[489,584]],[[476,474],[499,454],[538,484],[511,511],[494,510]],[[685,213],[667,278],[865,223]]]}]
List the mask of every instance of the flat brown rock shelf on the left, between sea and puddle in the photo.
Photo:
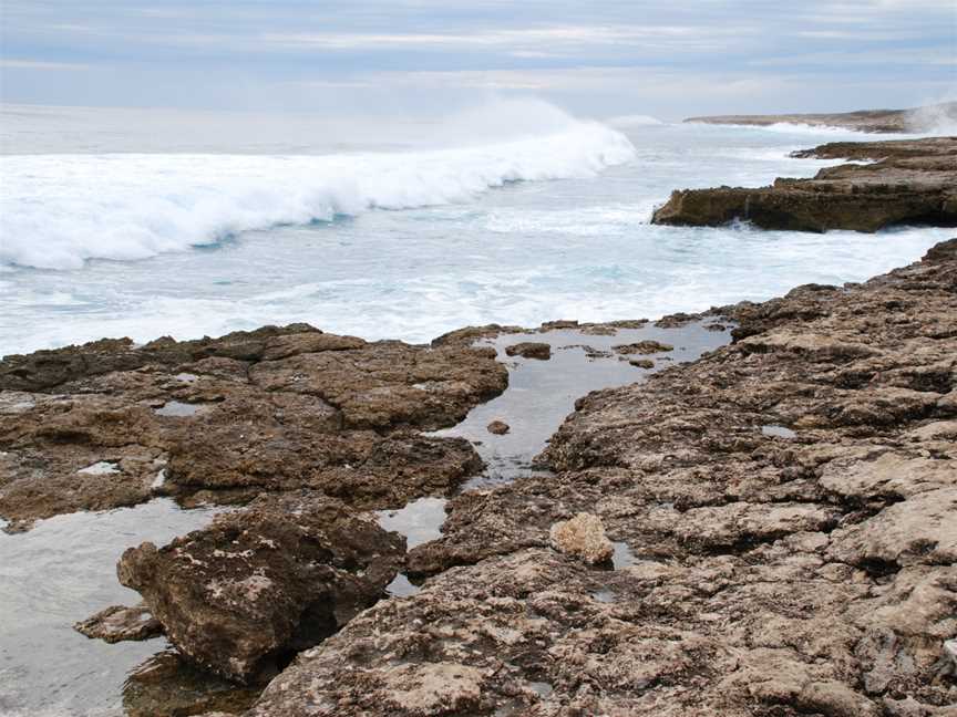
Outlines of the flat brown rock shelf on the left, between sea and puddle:
[{"label": "flat brown rock shelf on the left, between sea and puddle", "polygon": [[157,493],[235,502],[298,488],[401,507],[481,466],[467,443],[420,432],[453,425],[506,384],[487,350],[302,324],[7,356],[0,517],[17,529]]}]

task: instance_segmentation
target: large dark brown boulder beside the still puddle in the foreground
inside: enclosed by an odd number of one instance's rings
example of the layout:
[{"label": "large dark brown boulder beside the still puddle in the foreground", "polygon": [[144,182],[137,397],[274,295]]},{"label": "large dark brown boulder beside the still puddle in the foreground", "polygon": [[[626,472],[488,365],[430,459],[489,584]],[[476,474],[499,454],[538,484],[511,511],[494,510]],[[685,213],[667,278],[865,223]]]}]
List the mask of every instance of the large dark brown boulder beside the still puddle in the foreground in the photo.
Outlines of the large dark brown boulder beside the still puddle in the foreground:
[{"label": "large dark brown boulder beside the still puddle in the foreground", "polygon": [[123,553],[169,641],[198,665],[248,682],[269,658],[303,650],[374,603],[405,539],[321,493],[264,495],[204,530]]}]

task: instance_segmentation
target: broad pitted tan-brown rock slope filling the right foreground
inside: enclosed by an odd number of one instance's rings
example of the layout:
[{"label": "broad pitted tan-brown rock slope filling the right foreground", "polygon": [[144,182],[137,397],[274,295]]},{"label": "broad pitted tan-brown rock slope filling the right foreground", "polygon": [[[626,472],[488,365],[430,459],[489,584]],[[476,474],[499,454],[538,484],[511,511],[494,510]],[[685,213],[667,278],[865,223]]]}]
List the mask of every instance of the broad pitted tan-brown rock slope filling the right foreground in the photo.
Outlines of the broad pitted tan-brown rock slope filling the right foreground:
[{"label": "broad pitted tan-brown rock slope filling the right foreground", "polygon": [[[579,399],[554,474],[451,500],[421,592],[248,715],[953,716],[957,240],[732,313],[733,345]],[[579,512],[630,564],[552,549]]]}]

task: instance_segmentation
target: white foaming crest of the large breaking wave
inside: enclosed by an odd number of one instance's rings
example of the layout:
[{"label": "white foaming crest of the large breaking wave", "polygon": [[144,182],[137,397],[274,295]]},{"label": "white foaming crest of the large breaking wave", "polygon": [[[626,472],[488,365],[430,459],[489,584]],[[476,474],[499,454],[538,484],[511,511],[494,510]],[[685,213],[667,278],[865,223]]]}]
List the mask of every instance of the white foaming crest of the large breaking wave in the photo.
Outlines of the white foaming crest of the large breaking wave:
[{"label": "white foaming crest of the large breaking wave", "polygon": [[467,201],[512,181],[588,177],[635,156],[622,134],[601,124],[555,108],[545,124],[538,136],[526,128],[524,138],[425,152],[6,156],[0,262],[75,269],[92,258],[144,259],[244,230]]}]

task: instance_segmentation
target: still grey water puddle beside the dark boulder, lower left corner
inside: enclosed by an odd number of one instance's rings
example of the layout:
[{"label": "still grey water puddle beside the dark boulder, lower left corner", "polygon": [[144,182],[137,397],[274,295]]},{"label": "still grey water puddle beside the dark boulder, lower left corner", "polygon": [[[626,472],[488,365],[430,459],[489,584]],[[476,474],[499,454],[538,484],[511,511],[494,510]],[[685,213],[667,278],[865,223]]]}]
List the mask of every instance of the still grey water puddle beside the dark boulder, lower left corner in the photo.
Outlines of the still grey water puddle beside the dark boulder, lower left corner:
[{"label": "still grey water puddle beside the dark boulder, lower left corner", "polygon": [[126,548],[165,544],[206,526],[215,512],[160,499],[0,532],[0,715],[121,715],[127,674],[166,641],[107,645],[72,625],[107,605],[140,602],[116,582]]}]

